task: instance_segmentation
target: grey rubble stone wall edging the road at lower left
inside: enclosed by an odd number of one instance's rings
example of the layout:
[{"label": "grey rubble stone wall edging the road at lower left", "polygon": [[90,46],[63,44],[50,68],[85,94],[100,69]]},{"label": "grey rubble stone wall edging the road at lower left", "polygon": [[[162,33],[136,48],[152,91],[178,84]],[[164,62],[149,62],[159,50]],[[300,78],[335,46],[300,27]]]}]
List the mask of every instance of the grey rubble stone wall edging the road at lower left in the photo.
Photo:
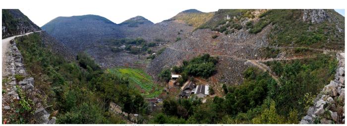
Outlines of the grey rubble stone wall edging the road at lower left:
[{"label": "grey rubble stone wall edging the road at lower left", "polygon": [[[21,88],[22,91],[29,93],[29,94],[36,94],[39,92],[37,89],[35,89],[35,80],[33,77],[28,77],[28,74],[26,73],[26,70],[23,65],[23,57],[20,54],[16,43],[12,40],[10,48],[8,49],[7,54],[5,58],[5,71],[6,75],[3,78],[7,78],[7,82],[4,83],[4,86],[6,87],[6,91],[8,92],[7,95],[3,95],[2,97],[2,105],[4,106],[4,110],[8,113],[14,113],[16,110],[15,108],[11,108],[8,105],[11,105],[13,103],[16,103],[21,99],[21,97],[18,95],[18,89]],[[25,77],[23,80],[16,80],[16,76],[23,76]],[[19,77],[17,77],[19,78]],[[50,114],[45,110],[45,108],[42,106],[40,100],[38,98],[35,98],[35,95],[33,95],[34,98],[30,98],[35,106],[32,107],[32,109],[37,109],[34,111],[34,116],[32,117],[33,120],[35,120],[36,124],[55,124],[56,118],[49,119]],[[10,120],[7,120],[7,123],[9,123]]]}]

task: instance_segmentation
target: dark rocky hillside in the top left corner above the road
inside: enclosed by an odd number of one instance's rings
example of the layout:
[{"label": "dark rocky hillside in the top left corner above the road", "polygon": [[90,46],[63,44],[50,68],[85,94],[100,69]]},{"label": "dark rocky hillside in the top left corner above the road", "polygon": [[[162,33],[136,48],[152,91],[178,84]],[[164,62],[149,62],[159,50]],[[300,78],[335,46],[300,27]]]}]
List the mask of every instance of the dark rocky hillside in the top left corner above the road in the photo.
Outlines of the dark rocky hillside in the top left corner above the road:
[{"label": "dark rocky hillside in the top left corner above the road", "polygon": [[19,9],[2,9],[2,39],[39,30]]}]

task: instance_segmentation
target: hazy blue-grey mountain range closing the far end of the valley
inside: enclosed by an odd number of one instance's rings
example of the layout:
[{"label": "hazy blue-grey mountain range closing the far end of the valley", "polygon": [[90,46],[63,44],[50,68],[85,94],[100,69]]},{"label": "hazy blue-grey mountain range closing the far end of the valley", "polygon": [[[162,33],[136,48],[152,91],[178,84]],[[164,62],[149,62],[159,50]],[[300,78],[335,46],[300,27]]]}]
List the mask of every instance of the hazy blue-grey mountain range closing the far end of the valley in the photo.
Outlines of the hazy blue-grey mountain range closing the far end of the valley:
[{"label": "hazy blue-grey mountain range closing the far end of the valley", "polygon": [[[97,63],[104,67],[115,67],[141,62],[137,55],[125,52],[112,52],[109,41],[121,38],[143,38],[147,42],[157,43],[152,47],[157,51],[167,43],[182,39],[194,29],[182,21],[163,21],[154,24],[142,16],[132,17],[120,24],[97,15],[57,17],[42,29],[57,38],[74,54],[86,51]],[[108,48],[105,48],[107,46]]]}]

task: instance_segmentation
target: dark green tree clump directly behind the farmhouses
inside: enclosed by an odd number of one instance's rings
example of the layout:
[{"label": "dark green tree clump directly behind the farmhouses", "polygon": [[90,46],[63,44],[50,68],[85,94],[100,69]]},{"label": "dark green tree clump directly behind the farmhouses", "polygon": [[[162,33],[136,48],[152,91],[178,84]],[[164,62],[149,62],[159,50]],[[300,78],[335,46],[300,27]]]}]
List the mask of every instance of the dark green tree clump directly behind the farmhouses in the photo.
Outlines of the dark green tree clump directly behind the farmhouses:
[{"label": "dark green tree clump directly behind the farmhouses", "polygon": [[[190,76],[201,76],[208,78],[216,72],[216,64],[218,63],[218,57],[210,57],[209,54],[195,57],[189,61],[183,61],[181,66],[173,66],[172,70],[175,73],[180,73],[181,78],[178,78],[178,82],[183,84]],[[159,77],[168,81],[170,79],[170,69],[164,69],[159,73]]]}]

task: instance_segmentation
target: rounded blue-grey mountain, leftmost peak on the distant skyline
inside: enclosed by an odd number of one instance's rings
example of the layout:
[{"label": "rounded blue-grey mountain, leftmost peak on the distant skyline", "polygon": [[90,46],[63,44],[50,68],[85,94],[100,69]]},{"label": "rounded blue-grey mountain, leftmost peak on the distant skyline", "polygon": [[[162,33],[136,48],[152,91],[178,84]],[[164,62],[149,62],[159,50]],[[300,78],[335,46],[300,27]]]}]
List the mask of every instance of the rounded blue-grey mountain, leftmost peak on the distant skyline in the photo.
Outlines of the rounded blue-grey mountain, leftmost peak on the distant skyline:
[{"label": "rounded blue-grey mountain, leftmost peak on the distant skyline", "polygon": [[41,28],[75,53],[97,40],[122,36],[116,23],[98,15],[57,17]]}]

